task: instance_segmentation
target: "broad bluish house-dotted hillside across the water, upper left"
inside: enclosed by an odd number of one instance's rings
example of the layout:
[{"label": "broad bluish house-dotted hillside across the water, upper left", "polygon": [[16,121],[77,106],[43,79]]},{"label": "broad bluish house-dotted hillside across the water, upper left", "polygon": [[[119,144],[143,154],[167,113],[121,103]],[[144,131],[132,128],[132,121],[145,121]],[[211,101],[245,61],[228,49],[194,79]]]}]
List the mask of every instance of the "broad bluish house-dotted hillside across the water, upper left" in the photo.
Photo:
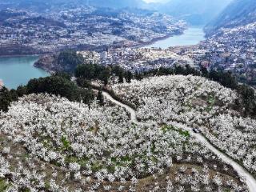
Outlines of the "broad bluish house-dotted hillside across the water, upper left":
[{"label": "broad bluish house-dotted hillside across the water, upper left", "polygon": [[181,34],[186,29],[185,22],[165,14],[134,14],[123,10],[112,14],[110,10],[105,13],[92,6],[63,4],[47,14],[31,10],[2,11],[7,16],[0,21],[1,52],[15,47],[25,52],[22,54],[130,47]]}]

